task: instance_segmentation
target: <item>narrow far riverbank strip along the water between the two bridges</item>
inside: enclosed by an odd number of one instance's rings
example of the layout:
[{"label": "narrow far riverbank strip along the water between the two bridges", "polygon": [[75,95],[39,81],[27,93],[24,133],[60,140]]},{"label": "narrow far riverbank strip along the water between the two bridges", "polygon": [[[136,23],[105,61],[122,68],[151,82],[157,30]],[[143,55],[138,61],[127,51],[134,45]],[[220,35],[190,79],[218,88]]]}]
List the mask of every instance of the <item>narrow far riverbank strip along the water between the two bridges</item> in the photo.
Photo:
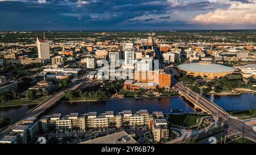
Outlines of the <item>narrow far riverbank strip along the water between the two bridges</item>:
[{"label": "narrow far riverbank strip along the water between the two bridges", "polygon": [[60,100],[60,102],[97,102],[106,100],[130,100],[130,99],[161,99],[161,98],[177,98],[179,95],[174,96],[162,96],[162,97],[139,97],[139,98],[110,98],[110,99],[91,99],[91,100]]}]

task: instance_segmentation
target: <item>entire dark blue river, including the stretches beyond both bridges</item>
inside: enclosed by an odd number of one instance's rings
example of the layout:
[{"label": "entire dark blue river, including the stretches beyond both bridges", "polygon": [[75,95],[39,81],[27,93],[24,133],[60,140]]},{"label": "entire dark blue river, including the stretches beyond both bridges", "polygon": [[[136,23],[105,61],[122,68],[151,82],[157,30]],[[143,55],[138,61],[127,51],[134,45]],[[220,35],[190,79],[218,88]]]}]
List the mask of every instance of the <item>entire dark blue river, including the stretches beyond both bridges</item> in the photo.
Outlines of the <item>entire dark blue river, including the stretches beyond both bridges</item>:
[{"label": "entire dark blue river, including the stretches beyond both bridges", "polygon": [[[256,95],[244,93],[241,95],[220,95],[210,97],[214,103],[218,104],[224,110],[249,110],[256,109]],[[0,117],[10,118],[11,123],[21,118],[28,110],[35,107],[35,105],[24,105],[16,107],[0,108]],[[160,98],[160,99],[126,99],[126,100],[104,100],[97,102],[76,102],[76,103],[60,103],[51,110],[48,110],[47,115],[53,113],[69,114],[71,112],[79,112],[85,114],[86,112],[96,111],[103,113],[105,111],[120,112],[123,110],[131,110],[136,112],[138,110],[146,109],[148,112],[163,111],[169,113],[171,109],[180,109],[183,112],[193,112],[193,108],[189,106],[179,97],[174,98]]]}]

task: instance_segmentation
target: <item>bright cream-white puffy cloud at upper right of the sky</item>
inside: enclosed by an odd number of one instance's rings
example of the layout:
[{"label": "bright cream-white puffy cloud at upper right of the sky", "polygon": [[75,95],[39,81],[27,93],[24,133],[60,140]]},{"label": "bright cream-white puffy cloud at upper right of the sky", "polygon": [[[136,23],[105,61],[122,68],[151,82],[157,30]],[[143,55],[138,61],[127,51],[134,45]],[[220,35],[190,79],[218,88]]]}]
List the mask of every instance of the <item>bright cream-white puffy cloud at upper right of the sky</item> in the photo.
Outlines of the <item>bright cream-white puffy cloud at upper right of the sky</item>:
[{"label": "bright cream-white puffy cloud at upper right of the sky", "polygon": [[193,18],[199,24],[256,24],[256,0],[247,3],[230,2],[228,9],[217,9]]}]

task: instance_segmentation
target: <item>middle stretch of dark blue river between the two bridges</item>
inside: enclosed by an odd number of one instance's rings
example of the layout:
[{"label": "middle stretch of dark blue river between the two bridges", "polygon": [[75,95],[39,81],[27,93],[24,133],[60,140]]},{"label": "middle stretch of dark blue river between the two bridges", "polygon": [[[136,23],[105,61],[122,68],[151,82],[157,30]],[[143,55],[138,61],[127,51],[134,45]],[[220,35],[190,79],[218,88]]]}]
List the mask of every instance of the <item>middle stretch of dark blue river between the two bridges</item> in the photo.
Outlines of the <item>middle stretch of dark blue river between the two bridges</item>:
[{"label": "middle stretch of dark blue river between the two bridges", "polygon": [[96,111],[103,113],[105,111],[120,112],[123,110],[131,110],[133,112],[146,109],[148,112],[163,111],[170,113],[171,109],[180,109],[184,112],[193,112],[188,104],[180,98],[160,98],[160,99],[126,99],[126,100],[104,100],[97,102],[74,102],[60,103],[47,112],[48,115],[53,113],[69,114],[71,112]]}]

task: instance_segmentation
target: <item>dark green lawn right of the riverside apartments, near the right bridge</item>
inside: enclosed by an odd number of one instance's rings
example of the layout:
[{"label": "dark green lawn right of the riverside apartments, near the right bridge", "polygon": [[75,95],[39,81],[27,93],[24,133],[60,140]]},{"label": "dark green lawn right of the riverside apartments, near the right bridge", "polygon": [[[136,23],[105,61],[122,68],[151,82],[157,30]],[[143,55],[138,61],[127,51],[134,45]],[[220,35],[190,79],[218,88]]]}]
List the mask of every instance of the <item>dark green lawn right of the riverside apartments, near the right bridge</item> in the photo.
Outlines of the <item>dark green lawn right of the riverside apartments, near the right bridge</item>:
[{"label": "dark green lawn right of the riverside apartments, near the right bridge", "polygon": [[169,122],[175,125],[180,125],[184,127],[189,127],[195,125],[197,118],[200,119],[200,116],[197,117],[195,114],[183,114],[183,115],[169,115]]}]

